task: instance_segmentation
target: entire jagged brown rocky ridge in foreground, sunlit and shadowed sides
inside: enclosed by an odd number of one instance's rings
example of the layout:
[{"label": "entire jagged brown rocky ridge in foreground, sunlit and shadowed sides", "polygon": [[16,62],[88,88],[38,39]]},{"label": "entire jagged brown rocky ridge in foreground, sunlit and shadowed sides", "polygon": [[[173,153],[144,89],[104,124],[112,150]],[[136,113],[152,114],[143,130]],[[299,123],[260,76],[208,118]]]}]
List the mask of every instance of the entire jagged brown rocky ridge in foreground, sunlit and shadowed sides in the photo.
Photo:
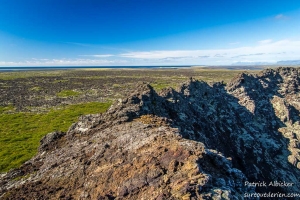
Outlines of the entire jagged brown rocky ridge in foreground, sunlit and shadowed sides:
[{"label": "entire jagged brown rocky ridge in foreground, sunlit and shadowed sides", "polygon": [[[41,140],[0,177],[1,199],[244,199],[300,191],[300,69],[139,84],[104,114]],[[286,182],[252,187],[246,182]]]}]

